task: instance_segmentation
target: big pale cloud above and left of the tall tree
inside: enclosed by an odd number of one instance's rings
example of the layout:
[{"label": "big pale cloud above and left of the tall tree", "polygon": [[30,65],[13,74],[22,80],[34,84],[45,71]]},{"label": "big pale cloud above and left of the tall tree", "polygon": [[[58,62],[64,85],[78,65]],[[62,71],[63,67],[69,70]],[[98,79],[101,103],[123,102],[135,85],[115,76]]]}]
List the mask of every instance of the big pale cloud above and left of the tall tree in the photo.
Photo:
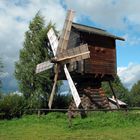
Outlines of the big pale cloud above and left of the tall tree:
[{"label": "big pale cloud above and left of the tall tree", "polygon": [[[59,0],[0,1],[0,57],[4,63],[4,71],[8,73],[7,77],[11,77],[14,73],[14,63],[18,60],[19,50],[23,47],[24,33],[39,10],[46,23],[51,20],[56,23],[59,30],[62,28],[65,9]],[[11,87],[13,80],[8,82]],[[14,80],[13,86],[16,86],[15,82]]]}]

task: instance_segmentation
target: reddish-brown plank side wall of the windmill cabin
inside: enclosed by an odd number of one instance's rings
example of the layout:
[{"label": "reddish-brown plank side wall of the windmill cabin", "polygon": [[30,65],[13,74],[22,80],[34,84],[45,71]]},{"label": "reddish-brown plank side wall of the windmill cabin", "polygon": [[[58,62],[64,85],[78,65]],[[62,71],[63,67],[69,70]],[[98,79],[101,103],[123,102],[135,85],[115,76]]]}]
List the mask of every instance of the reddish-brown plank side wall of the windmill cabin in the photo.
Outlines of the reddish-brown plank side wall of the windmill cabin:
[{"label": "reddish-brown plank side wall of the windmill cabin", "polygon": [[84,71],[90,74],[115,75],[115,48],[89,46],[90,59],[85,60]]}]

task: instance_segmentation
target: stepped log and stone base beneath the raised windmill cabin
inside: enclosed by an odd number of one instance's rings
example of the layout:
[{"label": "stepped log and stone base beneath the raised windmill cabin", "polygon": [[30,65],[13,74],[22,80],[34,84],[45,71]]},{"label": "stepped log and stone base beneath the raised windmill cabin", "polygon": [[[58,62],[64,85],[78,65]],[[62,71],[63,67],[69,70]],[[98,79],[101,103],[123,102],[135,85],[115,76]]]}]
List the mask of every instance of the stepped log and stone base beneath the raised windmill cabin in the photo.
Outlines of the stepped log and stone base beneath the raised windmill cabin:
[{"label": "stepped log and stone base beneath the raised windmill cabin", "polygon": [[75,102],[72,101],[69,105],[69,111],[68,114],[70,115],[69,117],[75,117],[77,115],[85,114],[88,112],[86,110],[88,109],[111,109],[109,105],[109,100],[107,96],[105,95],[105,92],[103,91],[102,88],[84,88],[83,90],[83,95],[80,97],[81,98],[81,106],[80,109],[84,109],[85,112],[78,112],[74,111],[77,109]]}]

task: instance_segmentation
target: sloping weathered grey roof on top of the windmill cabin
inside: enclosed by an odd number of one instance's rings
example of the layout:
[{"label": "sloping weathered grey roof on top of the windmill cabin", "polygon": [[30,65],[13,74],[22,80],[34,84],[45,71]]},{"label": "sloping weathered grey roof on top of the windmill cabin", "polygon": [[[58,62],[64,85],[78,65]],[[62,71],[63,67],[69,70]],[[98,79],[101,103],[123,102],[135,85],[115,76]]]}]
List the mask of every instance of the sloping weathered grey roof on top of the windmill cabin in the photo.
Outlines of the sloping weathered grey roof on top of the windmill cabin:
[{"label": "sloping weathered grey roof on top of the windmill cabin", "polygon": [[107,37],[111,37],[111,38],[122,40],[122,41],[125,40],[122,37],[118,37],[118,36],[115,36],[113,34],[110,34],[106,30],[103,30],[100,28],[86,26],[86,25],[82,25],[82,24],[78,24],[78,23],[74,23],[74,22],[72,23],[72,27],[79,30],[79,31],[82,31],[82,32],[88,32],[88,33],[98,34],[101,36],[107,36]]}]

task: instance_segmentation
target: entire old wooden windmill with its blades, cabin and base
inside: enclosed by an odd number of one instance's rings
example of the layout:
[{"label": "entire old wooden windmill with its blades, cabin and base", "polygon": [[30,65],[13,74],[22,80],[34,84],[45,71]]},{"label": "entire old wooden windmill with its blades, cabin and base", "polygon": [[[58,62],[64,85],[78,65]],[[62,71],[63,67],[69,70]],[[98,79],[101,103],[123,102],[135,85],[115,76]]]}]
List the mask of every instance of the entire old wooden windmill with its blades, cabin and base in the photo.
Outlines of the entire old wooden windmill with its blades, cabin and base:
[{"label": "entire old wooden windmill with its blades, cabin and base", "polygon": [[54,58],[38,64],[36,68],[36,73],[39,73],[55,67],[49,107],[52,105],[57,79],[67,79],[75,101],[70,104],[70,109],[80,104],[85,109],[95,106],[109,108],[101,83],[108,81],[115,96],[111,86],[117,71],[115,41],[124,39],[103,29],[73,23],[73,16],[74,12],[69,10],[59,41],[52,29],[48,32]]}]

